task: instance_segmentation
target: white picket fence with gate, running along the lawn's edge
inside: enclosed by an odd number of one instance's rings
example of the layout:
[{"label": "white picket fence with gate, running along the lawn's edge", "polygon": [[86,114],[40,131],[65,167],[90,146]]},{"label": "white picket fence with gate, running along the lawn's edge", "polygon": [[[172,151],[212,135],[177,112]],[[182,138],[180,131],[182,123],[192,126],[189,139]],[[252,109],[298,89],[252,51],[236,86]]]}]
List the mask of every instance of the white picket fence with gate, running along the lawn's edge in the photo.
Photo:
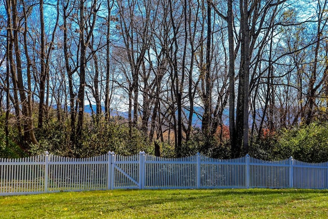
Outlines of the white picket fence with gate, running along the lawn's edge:
[{"label": "white picket fence with gate, running along the lawn's edge", "polygon": [[162,158],[114,152],[67,158],[45,155],[0,158],[0,195],[109,189],[312,188],[328,189],[328,162],[290,157],[262,161],[246,155],[218,160],[197,153]]}]

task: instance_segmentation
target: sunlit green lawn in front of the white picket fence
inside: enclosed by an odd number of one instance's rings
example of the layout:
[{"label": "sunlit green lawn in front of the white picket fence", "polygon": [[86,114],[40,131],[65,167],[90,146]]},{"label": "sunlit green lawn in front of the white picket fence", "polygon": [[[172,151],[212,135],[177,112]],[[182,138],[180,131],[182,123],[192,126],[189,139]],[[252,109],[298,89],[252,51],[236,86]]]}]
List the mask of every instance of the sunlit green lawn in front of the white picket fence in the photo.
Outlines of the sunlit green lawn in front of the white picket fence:
[{"label": "sunlit green lawn in front of the white picket fence", "polygon": [[110,190],[0,196],[0,218],[328,218],[328,190]]}]

